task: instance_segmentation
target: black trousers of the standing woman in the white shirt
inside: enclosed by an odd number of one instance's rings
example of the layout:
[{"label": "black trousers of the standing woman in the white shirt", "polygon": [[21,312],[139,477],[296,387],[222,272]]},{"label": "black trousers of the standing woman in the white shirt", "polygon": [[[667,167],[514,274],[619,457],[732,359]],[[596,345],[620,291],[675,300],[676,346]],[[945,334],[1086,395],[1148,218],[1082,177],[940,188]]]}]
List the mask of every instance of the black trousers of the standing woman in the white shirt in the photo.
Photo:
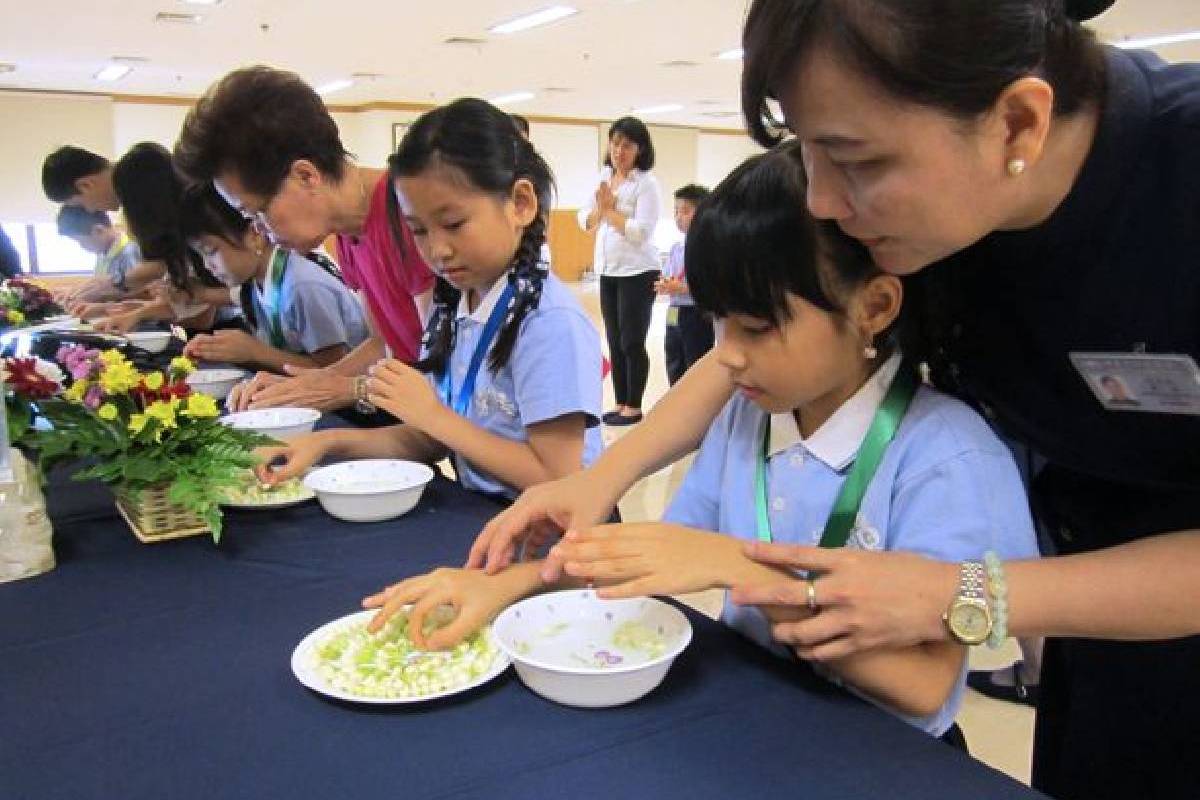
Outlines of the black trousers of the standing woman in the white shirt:
[{"label": "black trousers of the standing woman in the white shirt", "polygon": [[658,279],[658,270],[620,278],[600,276],[600,313],[612,359],[617,405],[642,408],[646,379],[650,374],[646,333],[650,330],[654,282]]}]

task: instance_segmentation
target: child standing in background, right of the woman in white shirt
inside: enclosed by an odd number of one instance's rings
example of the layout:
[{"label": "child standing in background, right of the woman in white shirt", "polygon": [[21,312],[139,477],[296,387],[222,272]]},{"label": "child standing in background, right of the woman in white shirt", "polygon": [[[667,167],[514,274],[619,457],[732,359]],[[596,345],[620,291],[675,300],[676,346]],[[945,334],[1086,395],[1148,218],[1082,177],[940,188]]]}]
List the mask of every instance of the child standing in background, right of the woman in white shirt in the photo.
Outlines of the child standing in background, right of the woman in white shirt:
[{"label": "child standing in background, right of the woman in white shirt", "polygon": [[[703,186],[689,184],[676,191],[676,227],[686,241],[688,228],[696,215],[696,206],[708,197]],[[683,373],[701,356],[713,349],[713,320],[696,308],[688,293],[688,278],[684,275],[684,245],[677,242],[667,255],[662,277],[654,284],[654,290],[671,297],[667,307],[667,330],[664,339],[666,351],[667,380],[674,386]]]}]

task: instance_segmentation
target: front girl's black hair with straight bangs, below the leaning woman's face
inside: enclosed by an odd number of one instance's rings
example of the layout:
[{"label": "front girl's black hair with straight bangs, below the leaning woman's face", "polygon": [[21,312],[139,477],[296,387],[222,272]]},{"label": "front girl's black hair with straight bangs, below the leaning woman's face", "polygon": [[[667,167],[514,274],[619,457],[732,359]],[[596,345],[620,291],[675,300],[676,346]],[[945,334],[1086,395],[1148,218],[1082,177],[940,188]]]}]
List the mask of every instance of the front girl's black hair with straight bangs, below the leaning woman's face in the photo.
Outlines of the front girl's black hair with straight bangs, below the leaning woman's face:
[{"label": "front girl's black hair with straight bangs, below the leaning woman's face", "polygon": [[[847,300],[883,275],[870,251],[805,204],[800,148],[790,140],[738,166],[701,200],[688,229],[684,264],[696,306],[714,317],[744,314],[779,326],[791,318],[788,295],[845,319]],[[904,303],[880,335],[884,353],[924,347]]]}]

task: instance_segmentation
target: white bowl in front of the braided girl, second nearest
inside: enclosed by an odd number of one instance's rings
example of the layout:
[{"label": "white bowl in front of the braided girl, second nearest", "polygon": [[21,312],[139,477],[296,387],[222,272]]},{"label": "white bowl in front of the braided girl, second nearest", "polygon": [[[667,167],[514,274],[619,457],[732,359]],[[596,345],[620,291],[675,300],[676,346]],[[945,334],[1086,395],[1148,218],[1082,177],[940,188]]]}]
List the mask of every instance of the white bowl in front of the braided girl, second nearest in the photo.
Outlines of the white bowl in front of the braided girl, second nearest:
[{"label": "white bowl in front of the braided girl, second nearest", "polygon": [[432,480],[433,470],[425,464],[368,458],[314,469],[304,485],[331,517],[379,522],[412,511]]}]

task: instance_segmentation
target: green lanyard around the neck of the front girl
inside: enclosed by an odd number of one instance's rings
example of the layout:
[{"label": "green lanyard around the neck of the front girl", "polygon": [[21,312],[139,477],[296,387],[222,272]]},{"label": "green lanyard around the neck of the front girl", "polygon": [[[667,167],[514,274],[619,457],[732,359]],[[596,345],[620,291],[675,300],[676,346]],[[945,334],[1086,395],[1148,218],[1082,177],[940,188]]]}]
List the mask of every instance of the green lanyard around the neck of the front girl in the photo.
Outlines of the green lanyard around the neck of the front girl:
[{"label": "green lanyard around the neck of the front girl", "polygon": [[[871,427],[863,437],[863,444],[858,449],[854,465],[850,475],[838,492],[838,499],[833,504],[829,519],[826,521],[824,533],[821,535],[821,547],[844,547],[850,539],[850,531],[854,527],[858,510],[863,505],[863,497],[866,487],[875,477],[875,470],[883,461],[892,439],[896,435],[896,428],[912,403],[913,395],[917,393],[917,371],[907,362],[900,363],[900,372],[896,373],[888,393],[883,397]],[[767,415],[767,423],[762,435],[762,452],[758,457],[758,467],[755,470],[755,511],[758,522],[758,541],[770,542],[770,516],[767,513],[767,457],[770,447],[770,415]]]}]

